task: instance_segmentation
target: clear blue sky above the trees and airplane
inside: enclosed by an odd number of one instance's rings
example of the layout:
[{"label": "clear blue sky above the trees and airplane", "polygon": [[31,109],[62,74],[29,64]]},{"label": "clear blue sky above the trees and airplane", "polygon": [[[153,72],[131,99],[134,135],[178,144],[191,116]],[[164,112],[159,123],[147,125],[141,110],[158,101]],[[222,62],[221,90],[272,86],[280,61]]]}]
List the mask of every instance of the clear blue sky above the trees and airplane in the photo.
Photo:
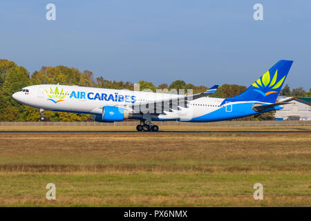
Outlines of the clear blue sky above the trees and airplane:
[{"label": "clear blue sky above the trees and airplane", "polygon": [[[56,21],[46,20],[55,3]],[[253,6],[263,4],[263,21]],[[279,59],[285,82],[311,87],[311,1],[20,0],[0,2],[0,58],[156,86],[249,86]]]}]

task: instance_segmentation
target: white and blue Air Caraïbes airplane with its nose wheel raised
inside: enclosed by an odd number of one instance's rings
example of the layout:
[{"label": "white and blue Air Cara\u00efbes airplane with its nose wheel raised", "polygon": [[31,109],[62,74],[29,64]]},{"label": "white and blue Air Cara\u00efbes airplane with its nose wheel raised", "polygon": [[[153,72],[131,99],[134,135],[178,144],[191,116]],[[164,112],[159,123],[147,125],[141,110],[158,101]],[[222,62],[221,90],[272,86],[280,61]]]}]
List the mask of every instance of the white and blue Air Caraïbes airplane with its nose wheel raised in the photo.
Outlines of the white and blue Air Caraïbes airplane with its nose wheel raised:
[{"label": "white and blue Air Cara\u00efbes airplane with its nose wheel raised", "polygon": [[276,111],[285,102],[276,102],[293,61],[280,60],[243,93],[226,99],[208,97],[218,85],[204,93],[178,95],[133,90],[114,90],[59,84],[26,86],[12,97],[44,110],[94,115],[95,122],[122,122],[138,119],[137,131],[159,130],[151,121],[216,122]]}]

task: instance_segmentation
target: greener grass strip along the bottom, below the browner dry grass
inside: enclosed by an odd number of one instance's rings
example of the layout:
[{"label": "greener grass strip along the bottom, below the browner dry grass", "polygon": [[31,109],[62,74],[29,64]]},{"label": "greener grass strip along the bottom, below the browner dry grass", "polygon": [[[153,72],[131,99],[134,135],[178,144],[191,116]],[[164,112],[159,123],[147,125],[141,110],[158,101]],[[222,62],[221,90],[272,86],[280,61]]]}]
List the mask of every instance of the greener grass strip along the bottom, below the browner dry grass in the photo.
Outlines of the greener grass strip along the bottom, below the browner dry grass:
[{"label": "greener grass strip along the bottom, below the browner dry grass", "polygon": [[[310,179],[310,174],[292,173],[1,174],[0,202],[17,206],[307,205]],[[45,199],[48,182],[56,185],[55,201]],[[264,187],[260,202],[252,196],[256,182]]]}]

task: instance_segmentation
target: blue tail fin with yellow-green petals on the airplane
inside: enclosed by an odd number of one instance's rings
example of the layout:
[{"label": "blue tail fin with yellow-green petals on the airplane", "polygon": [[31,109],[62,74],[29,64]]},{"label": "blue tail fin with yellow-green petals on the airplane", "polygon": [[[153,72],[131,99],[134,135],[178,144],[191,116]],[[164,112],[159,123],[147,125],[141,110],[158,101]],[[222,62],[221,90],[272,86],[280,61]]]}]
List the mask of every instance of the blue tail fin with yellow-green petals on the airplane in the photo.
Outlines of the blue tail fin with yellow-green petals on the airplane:
[{"label": "blue tail fin with yellow-green petals on the airplane", "polygon": [[226,102],[241,101],[274,103],[281,91],[286,76],[288,76],[292,62],[293,61],[280,60],[243,93],[225,99],[223,104]]}]

